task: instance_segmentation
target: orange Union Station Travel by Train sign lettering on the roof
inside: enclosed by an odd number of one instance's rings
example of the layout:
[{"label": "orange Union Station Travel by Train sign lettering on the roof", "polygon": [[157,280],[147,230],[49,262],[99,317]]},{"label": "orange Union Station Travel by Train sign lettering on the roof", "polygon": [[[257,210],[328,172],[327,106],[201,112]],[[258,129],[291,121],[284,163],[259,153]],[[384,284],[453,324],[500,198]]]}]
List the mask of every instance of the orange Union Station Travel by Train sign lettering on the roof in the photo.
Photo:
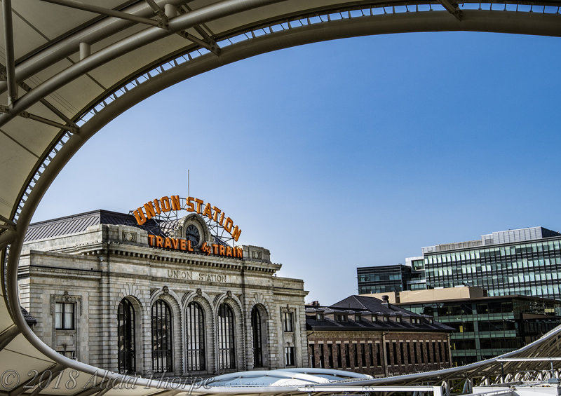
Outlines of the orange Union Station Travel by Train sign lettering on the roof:
[{"label": "orange Union Station Travel by Train sign lettering on the roof", "polygon": [[[181,210],[186,210],[187,212],[199,214],[201,217],[208,218],[207,225],[214,224],[214,227],[224,230],[231,235],[231,240],[236,242],[240,238],[241,228],[234,224],[234,220],[228,217],[224,211],[219,209],[215,205],[210,203],[205,203],[204,200],[194,197],[180,198],[180,196],[163,196],[161,198],[156,198],[150,200],[144,205],[137,207],[136,210],[131,210],[130,212],[136,219],[139,226],[148,225],[147,221],[150,219],[155,219],[157,226],[165,225],[166,223],[177,224],[177,212]],[[175,221],[174,221],[175,220]],[[224,231],[220,231],[223,233]],[[155,231],[153,231],[155,232]],[[166,235],[166,233],[163,233]],[[167,235],[170,235],[168,233]],[[219,235],[219,240],[224,240],[223,234]],[[149,233],[148,244],[153,247],[161,247],[164,249],[179,250],[183,252],[194,252],[200,250],[206,254],[222,256],[222,257],[233,257],[233,258],[243,258],[243,250],[241,247],[230,247],[228,245],[222,245],[218,243],[207,243],[204,242],[198,249],[195,246],[191,246],[191,240],[189,238],[172,238],[166,236],[159,236]]]}]

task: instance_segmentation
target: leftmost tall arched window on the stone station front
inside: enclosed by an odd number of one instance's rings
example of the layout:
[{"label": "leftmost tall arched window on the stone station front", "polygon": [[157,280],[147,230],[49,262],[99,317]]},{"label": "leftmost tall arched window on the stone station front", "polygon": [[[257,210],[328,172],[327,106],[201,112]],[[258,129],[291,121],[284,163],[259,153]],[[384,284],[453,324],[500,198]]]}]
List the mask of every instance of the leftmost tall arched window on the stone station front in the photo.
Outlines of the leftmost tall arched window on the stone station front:
[{"label": "leftmost tall arched window on the stone station front", "polygon": [[136,371],[135,357],[135,308],[126,298],[119,303],[117,310],[119,329],[117,331],[117,350],[119,373],[134,374]]}]

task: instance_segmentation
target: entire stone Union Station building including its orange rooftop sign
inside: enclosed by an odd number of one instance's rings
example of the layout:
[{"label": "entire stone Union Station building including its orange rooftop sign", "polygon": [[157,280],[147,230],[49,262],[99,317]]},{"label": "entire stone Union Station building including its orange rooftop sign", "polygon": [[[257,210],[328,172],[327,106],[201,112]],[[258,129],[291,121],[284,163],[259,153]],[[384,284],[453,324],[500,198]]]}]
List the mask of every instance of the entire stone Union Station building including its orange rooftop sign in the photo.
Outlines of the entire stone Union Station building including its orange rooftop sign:
[{"label": "entire stone Union Station building including its orange rooftop sign", "polygon": [[178,202],[29,226],[18,275],[34,332],[141,376],[308,367],[304,282],[276,276],[269,250],[236,245],[241,230],[217,207]]}]

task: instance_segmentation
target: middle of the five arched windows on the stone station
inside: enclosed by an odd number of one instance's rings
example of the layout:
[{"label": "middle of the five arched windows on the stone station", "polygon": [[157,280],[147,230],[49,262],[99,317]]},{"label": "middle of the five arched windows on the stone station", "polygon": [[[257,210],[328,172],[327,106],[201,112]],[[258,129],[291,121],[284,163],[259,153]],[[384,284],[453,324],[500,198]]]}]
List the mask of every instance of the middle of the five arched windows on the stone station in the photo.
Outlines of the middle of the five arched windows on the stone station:
[{"label": "middle of the five arched windows on the stone station", "polygon": [[187,305],[187,370],[205,369],[205,317],[203,308],[196,302]]}]

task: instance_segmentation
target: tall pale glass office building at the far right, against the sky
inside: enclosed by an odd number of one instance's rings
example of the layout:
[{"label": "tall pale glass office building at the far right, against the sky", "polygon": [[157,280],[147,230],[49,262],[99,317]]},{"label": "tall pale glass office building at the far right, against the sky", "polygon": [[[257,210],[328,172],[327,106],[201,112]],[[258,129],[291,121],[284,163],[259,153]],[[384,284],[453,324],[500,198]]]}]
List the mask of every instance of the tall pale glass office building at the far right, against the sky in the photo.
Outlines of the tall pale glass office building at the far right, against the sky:
[{"label": "tall pale glass office building at the far right, against the sky", "polygon": [[[542,227],[423,248],[428,289],[474,286],[489,296],[561,299],[561,234]],[[360,286],[360,284],[359,284]]]}]

